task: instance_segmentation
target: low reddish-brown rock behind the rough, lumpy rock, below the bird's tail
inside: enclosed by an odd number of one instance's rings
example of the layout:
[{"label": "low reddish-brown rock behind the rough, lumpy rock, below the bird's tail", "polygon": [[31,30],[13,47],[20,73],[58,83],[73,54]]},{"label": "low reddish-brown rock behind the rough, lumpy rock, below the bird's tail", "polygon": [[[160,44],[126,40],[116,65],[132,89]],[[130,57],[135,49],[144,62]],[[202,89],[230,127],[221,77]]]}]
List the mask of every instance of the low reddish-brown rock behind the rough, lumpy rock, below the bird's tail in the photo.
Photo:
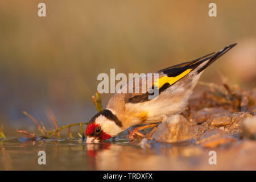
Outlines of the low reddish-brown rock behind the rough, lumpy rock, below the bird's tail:
[{"label": "low reddish-brown rock behind the rough, lumpy rock, below the bird's tail", "polygon": [[231,114],[229,110],[221,109],[220,107],[205,107],[199,111],[193,112],[193,119],[197,124],[201,124],[212,117],[217,117],[221,114]]}]

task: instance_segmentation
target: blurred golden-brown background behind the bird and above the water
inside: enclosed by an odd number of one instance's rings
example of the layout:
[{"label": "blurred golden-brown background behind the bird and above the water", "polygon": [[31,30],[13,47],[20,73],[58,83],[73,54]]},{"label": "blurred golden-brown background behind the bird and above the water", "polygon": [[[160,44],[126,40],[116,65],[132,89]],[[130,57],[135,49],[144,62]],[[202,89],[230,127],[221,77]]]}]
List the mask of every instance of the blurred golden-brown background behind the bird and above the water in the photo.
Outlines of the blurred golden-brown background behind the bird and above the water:
[{"label": "blurred golden-brown background behind the bird and above the water", "polygon": [[[38,16],[40,2],[46,17]],[[217,17],[208,15],[210,2]],[[50,127],[50,115],[59,125],[88,121],[99,73],[155,72],[236,42],[201,81],[219,83],[222,73],[253,88],[255,7],[251,0],[0,0],[0,123],[35,129],[23,110]],[[104,106],[109,97],[102,95]]]}]

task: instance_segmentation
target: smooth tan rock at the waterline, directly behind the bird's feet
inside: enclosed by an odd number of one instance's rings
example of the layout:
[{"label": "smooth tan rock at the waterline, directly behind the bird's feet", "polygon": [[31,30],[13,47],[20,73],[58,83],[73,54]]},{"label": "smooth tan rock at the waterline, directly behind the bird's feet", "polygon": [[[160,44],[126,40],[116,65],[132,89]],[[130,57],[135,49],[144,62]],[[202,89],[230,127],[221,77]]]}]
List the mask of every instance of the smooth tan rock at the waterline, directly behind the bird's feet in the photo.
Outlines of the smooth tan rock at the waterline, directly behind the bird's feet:
[{"label": "smooth tan rock at the waterline, directly behind the bird's feet", "polygon": [[191,140],[197,134],[196,128],[182,115],[174,115],[158,126],[152,138],[158,142],[181,142]]}]

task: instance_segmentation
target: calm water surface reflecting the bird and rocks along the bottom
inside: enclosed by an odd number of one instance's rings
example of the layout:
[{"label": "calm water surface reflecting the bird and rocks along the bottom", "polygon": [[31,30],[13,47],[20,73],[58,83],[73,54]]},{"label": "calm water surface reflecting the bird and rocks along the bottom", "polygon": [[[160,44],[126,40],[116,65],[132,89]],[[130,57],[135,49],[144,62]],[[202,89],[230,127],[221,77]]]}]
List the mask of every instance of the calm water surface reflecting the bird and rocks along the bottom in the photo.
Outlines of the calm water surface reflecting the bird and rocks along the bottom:
[{"label": "calm water surface reflecting the bird and rocks along the bottom", "polygon": [[[126,140],[86,144],[80,139],[38,142],[0,140],[0,170],[180,170],[255,169],[255,142],[216,148],[217,164],[210,165],[208,148],[195,144],[151,143],[151,148]],[[38,152],[46,152],[46,165]]]}]

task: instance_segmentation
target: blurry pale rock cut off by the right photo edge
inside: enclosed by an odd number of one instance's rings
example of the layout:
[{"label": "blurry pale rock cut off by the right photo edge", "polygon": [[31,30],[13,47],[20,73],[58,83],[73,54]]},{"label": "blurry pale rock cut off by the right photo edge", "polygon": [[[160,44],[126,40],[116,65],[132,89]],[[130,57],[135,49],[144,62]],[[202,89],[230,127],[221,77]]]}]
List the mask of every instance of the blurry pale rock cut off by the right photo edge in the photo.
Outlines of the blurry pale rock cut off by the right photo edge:
[{"label": "blurry pale rock cut off by the right photo edge", "polygon": [[245,119],[241,125],[242,137],[249,139],[256,139],[256,116],[253,118]]}]

